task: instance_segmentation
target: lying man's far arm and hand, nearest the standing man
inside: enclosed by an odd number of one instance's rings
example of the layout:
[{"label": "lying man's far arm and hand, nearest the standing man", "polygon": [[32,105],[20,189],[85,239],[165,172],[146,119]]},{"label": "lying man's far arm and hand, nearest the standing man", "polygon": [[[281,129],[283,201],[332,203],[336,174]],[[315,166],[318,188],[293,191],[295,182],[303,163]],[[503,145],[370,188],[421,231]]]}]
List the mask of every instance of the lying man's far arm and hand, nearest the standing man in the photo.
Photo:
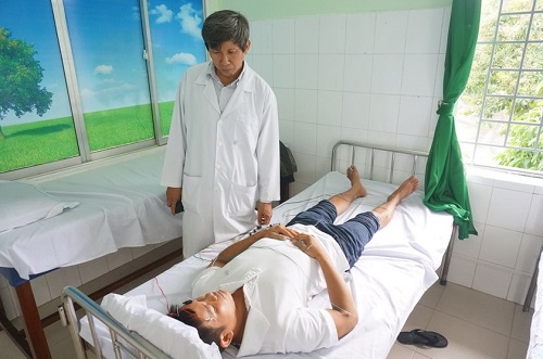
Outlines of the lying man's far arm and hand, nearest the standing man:
[{"label": "lying man's far arm and hand, nearest the standing man", "polygon": [[273,226],[266,228],[228,246],[226,249],[224,249],[218,254],[217,258],[215,258],[215,260],[213,260],[209,267],[225,266],[227,262],[237,257],[240,253],[244,252],[247,248],[249,248],[251,245],[253,245],[263,238],[285,241],[285,240],[290,240],[291,238],[298,234],[299,232],[291,230],[285,226]]}]

